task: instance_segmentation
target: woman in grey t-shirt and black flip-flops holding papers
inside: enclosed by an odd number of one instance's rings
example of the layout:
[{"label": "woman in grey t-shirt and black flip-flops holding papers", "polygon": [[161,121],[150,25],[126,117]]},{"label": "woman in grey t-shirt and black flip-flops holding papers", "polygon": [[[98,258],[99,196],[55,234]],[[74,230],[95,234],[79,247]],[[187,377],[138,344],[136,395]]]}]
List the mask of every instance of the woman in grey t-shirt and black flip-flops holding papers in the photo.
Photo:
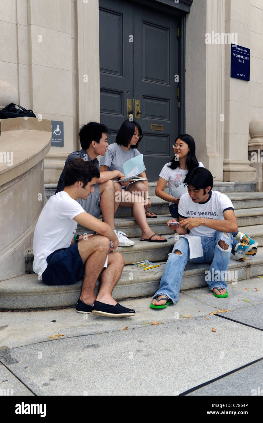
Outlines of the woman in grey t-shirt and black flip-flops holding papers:
[{"label": "woman in grey t-shirt and black flip-flops holding papers", "polygon": [[[119,172],[124,173],[123,163],[141,154],[137,147],[142,137],[141,126],[135,121],[125,120],[116,135],[116,143],[110,144],[105,156],[100,158],[100,171],[119,170]],[[141,172],[138,176],[147,179],[145,170],[144,166],[144,172]],[[148,211],[151,206],[148,181],[130,184],[130,181],[122,182],[122,179],[125,179],[125,176],[119,178],[119,182],[114,183],[115,195],[120,194],[124,197],[124,201],[119,204],[121,207],[133,208],[133,216],[142,231],[141,240],[167,242],[166,238],[157,235],[149,228],[146,220],[146,217],[157,217],[154,213]]]}]

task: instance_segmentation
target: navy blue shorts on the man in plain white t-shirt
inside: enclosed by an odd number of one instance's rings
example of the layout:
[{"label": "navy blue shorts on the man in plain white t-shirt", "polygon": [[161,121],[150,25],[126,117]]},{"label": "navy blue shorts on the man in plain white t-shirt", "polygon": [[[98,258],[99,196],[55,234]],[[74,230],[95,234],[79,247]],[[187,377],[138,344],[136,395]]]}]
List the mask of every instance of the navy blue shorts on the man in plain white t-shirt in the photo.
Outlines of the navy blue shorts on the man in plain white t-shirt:
[{"label": "navy blue shorts on the man in plain white t-shirt", "polygon": [[46,261],[47,268],[42,273],[42,281],[47,285],[71,285],[84,276],[77,243],[54,251],[48,255]]}]

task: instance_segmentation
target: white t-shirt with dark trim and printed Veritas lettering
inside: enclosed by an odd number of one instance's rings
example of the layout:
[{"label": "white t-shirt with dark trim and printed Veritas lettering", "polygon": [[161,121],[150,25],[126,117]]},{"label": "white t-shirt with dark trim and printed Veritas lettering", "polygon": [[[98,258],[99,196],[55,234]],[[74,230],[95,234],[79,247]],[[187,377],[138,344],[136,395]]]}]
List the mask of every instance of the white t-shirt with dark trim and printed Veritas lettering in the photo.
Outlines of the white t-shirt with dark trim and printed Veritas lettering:
[{"label": "white t-shirt with dark trim and printed Veritas lettering", "polygon": [[[234,210],[232,201],[219,191],[210,191],[209,199],[204,203],[195,203],[190,195],[184,194],[179,201],[179,217],[205,217],[206,219],[225,220],[223,213]],[[213,236],[216,230],[207,226],[190,229],[190,235]]]}]

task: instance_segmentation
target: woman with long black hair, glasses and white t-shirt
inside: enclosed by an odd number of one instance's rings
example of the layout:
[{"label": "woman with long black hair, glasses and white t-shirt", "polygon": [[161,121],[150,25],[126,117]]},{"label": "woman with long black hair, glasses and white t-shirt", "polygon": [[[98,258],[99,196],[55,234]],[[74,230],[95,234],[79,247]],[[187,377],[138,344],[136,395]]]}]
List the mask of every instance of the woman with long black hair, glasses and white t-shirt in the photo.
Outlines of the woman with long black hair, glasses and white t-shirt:
[{"label": "woman with long black hair, glasses and white t-shirt", "polygon": [[161,170],[160,177],[155,189],[155,195],[165,201],[169,201],[171,216],[179,219],[178,204],[179,198],[173,197],[164,191],[168,182],[169,190],[183,184],[184,178],[189,170],[201,167],[203,163],[198,162],[195,156],[195,141],[191,135],[179,135],[173,145],[174,157],[170,163],[166,163]]}]

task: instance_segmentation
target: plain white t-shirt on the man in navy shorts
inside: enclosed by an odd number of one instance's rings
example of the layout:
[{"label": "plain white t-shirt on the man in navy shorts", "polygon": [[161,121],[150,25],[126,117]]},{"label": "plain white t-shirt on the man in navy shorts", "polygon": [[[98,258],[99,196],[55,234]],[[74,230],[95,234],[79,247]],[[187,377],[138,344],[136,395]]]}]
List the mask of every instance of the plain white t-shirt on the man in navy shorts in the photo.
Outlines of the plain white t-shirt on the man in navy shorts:
[{"label": "plain white t-shirt on the man in navy shorts", "polygon": [[33,270],[46,270],[46,258],[60,248],[68,248],[76,233],[77,222],[73,218],[84,213],[81,205],[65,191],[57,192],[46,202],[35,226],[33,240]]}]

